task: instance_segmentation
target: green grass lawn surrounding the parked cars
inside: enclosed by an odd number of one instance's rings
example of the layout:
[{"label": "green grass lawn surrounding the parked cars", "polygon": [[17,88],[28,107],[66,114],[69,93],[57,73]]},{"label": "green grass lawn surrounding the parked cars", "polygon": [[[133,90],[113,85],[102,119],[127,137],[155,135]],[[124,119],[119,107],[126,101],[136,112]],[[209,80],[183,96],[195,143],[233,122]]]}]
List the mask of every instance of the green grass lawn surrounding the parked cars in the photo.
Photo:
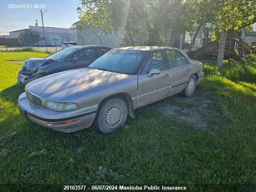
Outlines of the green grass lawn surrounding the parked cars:
[{"label": "green grass lawn surrounding the parked cars", "polygon": [[[0,188],[163,184],[193,192],[256,190],[256,84],[208,74],[197,91],[212,93],[212,108],[224,122],[212,118],[207,128],[144,107],[114,134],[93,127],[66,134],[26,122],[18,111],[22,63],[9,61],[45,56],[0,52]],[[214,64],[204,62],[206,68]]]}]

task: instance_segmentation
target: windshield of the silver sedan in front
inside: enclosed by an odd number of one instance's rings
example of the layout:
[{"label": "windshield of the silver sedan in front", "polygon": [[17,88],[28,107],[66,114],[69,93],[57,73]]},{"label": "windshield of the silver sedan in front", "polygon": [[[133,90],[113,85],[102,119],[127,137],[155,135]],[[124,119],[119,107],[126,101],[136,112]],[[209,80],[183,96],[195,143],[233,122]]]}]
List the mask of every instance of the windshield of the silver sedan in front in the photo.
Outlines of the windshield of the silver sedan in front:
[{"label": "windshield of the silver sedan in front", "polygon": [[145,55],[146,51],[110,50],[90,64],[89,68],[134,74]]}]

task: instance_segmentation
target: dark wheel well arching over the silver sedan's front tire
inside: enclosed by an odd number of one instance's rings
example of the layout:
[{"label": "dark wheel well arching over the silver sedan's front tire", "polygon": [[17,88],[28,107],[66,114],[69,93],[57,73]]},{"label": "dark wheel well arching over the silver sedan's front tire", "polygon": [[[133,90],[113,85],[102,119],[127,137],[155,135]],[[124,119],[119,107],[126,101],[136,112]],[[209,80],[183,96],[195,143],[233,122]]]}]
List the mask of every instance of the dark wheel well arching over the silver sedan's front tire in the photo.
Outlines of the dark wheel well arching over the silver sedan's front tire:
[{"label": "dark wheel well arching over the silver sedan's front tire", "polygon": [[[108,96],[106,98],[104,98],[99,106],[98,106],[98,112],[99,112],[99,109],[101,108],[101,106],[107,102],[108,100],[112,99],[112,98],[120,98],[122,100],[124,100],[124,102],[126,103],[127,105],[127,108],[128,108],[128,115],[132,118],[134,118],[135,116],[135,113],[134,113],[134,108],[133,108],[133,102],[132,102],[132,98],[130,97],[129,94],[127,93],[118,93],[118,94],[114,94],[114,95],[111,95],[111,96]],[[98,113],[97,112],[97,113]]]}]

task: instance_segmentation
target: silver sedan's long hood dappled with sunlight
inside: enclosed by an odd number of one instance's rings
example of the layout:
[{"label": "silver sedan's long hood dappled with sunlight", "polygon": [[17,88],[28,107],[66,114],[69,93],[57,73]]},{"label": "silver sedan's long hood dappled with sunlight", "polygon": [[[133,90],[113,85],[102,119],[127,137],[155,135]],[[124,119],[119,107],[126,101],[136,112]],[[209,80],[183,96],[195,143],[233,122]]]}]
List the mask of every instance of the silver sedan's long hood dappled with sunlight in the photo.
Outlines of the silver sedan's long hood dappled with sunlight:
[{"label": "silver sedan's long hood dappled with sunlight", "polygon": [[64,98],[90,88],[127,76],[92,68],[80,68],[45,76],[26,85],[26,90],[44,100],[61,102]]}]

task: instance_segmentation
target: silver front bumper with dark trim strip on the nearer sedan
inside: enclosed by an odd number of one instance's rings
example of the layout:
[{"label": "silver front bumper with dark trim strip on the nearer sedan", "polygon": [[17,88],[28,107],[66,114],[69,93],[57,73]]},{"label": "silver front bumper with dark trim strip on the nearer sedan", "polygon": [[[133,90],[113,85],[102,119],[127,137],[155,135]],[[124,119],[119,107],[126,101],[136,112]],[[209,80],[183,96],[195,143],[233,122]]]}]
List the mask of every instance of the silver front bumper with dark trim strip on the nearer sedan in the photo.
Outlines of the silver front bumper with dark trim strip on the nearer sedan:
[{"label": "silver front bumper with dark trim strip on the nearer sedan", "polygon": [[61,116],[63,112],[54,111],[54,116],[43,116],[42,114],[47,114],[47,111],[49,111],[50,114],[50,111],[52,112],[52,110],[33,106],[26,98],[25,93],[20,95],[18,105],[22,117],[26,120],[31,120],[44,127],[52,128],[61,132],[74,132],[88,128],[92,125],[94,118],[96,117],[96,110],[90,110],[88,112],[73,114],[70,116]]}]

